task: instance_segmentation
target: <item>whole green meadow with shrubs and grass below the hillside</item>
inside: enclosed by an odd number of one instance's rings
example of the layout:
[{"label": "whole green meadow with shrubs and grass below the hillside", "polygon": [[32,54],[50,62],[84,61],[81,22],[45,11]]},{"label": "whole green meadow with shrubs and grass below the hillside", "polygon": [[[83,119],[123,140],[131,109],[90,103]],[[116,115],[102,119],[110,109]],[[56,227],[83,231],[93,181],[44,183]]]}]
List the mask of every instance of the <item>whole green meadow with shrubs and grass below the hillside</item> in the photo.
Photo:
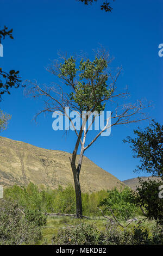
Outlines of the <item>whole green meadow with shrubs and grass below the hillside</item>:
[{"label": "whole green meadow with shrubs and grass below the hillside", "polygon": [[[134,198],[135,192],[128,187],[121,190],[114,188],[111,191],[83,193],[85,217],[79,219],[71,216],[76,212],[76,198],[72,185],[66,188],[59,186],[56,190],[41,188],[33,183],[27,187],[15,185],[5,188],[4,205],[1,204],[0,209],[3,209],[0,222],[5,240],[1,236],[0,244],[162,244],[160,225],[143,216]],[[54,213],[58,215],[51,215]],[[8,223],[11,227],[16,225],[15,232],[17,231],[18,236],[9,232]],[[26,239],[22,239],[20,231],[25,234]]]}]

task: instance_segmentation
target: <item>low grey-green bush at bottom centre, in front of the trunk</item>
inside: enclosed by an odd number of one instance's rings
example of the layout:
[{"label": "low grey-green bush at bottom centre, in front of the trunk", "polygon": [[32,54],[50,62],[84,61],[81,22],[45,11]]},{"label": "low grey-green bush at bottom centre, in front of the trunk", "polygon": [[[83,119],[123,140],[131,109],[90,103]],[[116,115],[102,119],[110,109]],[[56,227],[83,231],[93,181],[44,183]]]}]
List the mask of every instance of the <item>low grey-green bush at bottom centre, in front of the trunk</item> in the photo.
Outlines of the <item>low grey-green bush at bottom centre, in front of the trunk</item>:
[{"label": "low grey-green bush at bottom centre, in front of the trunk", "polygon": [[61,228],[53,237],[55,245],[102,245],[104,234],[93,224],[80,223],[77,226]]}]

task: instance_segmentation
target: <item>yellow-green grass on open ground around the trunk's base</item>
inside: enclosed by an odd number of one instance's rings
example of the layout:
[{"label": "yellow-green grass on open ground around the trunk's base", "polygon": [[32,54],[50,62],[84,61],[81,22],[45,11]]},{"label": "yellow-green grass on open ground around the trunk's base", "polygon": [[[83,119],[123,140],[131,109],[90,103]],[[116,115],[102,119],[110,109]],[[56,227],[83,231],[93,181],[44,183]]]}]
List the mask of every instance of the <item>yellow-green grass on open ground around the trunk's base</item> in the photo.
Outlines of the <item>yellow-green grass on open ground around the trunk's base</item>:
[{"label": "yellow-green grass on open ground around the trunk's base", "polygon": [[[110,216],[111,217],[111,216]],[[153,225],[155,224],[154,221],[145,221],[143,216],[136,216],[137,220],[141,221],[141,225],[145,228],[147,228],[149,231],[152,229]],[[105,230],[105,225],[107,223],[107,219],[103,217],[95,217],[95,218],[90,218],[90,219],[83,219],[79,220],[74,217],[60,217],[60,216],[48,216],[47,217],[47,225],[46,227],[42,228],[42,235],[43,238],[39,242],[39,245],[42,245],[42,243],[46,242],[48,244],[51,244],[52,242],[52,237],[54,235],[57,235],[58,230],[62,227],[66,227],[67,224],[71,225],[77,225],[80,223],[90,223],[90,224],[95,224],[98,230],[104,231]],[[126,221],[120,221],[120,223],[124,226],[127,225]],[[131,223],[128,228],[131,228],[135,225],[136,222]],[[123,228],[122,228],[123,229]]]}]

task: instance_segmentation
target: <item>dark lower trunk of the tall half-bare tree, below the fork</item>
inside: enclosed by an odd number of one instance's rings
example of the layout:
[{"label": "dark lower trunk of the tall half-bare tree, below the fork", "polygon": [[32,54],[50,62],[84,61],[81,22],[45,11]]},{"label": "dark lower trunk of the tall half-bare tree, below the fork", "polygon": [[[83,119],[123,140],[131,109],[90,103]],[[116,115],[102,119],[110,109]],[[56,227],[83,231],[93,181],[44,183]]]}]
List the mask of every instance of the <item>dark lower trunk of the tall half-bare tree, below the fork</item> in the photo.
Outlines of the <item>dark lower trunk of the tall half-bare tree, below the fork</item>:
[{"label": "dark lower trunk of the tall half-bare tree, below the fork", "polygon": [[73,179],[74,179],[74,186],[76,191],[76,214],[77,218],[83,218],[83,210],[82,210],[82,193],[80,189],[80,182],[79,182],[79,173],[77,169],[73,169]]}]

